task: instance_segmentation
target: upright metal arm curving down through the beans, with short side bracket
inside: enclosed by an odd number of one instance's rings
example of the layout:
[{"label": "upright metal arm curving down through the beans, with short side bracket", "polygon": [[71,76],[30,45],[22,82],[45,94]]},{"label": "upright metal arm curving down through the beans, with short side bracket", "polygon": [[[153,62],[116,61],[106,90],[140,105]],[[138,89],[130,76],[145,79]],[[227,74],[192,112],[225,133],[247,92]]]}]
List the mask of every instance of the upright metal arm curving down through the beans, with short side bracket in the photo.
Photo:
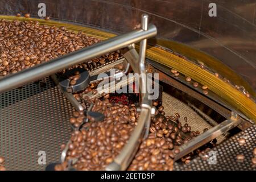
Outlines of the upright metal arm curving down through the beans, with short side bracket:
[{"label": "upright metal arm curving down through the beans, with short side bracket", "polygon": [[[148,26],[148,15],[142,15],[142,30],[147,31]],[[139,75],[146,74],[145,69],[145,55],[146,55],[146,46],[147,39],[143,39],[141,41],[141,46],[139,50],[139,55],[137,51],[135,51],[133,46],[128,47],[130,50],[125,53],[123,56],[129,61],[131,68],[135,73],[139,73]],[[147,76],[141,76],[141,80],[139,80],[139,89],[141,92],[141,115],[138,119],[138,125],[135,127],[133,133],[131,133],[131,137],[128,140],[127,144],[122,148],[120,154],[114,159],[109,166],[106,167],[106,170],[125,170],[131,160],[134,158],[139,145],[142,142],[143,137],[147,137],[148,130],[150,127],[150,118],[152,109],[152,102],[148,100],[147,93]],[[146,92],[145,92],[146,91]],[[154,114],[154,113],[153,113]]]}]

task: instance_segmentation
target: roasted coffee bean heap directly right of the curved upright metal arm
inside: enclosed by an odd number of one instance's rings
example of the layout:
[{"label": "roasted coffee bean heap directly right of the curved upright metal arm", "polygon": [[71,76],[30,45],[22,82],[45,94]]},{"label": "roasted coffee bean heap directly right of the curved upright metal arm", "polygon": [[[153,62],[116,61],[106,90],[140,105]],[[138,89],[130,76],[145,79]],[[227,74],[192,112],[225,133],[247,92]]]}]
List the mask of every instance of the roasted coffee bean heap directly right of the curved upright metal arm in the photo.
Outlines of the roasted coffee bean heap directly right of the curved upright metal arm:
[{"label": "roasted coffee bean heap directly right of the curved upright metal arm", "polygon": [[[154,106],[158,103],[154,102]],[[200,134],[191,131],[187,123],[182,126],[178,113],[165,117],[163,110],[163,106],[158,107],[155,117],[151,118],[150,135],[143,140],[129,170],[172,170],[179,146]],[[187,122],[186,117],[184,122]],[[189,163],[190,159],[191,156],[185,156],[181,160]]]}]

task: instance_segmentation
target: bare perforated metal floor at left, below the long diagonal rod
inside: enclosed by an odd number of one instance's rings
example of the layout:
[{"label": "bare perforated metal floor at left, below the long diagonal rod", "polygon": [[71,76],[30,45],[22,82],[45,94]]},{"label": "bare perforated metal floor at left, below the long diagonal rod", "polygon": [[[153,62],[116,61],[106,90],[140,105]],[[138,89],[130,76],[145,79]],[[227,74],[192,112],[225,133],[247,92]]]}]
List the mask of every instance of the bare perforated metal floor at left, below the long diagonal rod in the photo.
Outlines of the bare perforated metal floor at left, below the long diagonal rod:
[{"label": "bare perforated metal floor at left, below the long diagonal rod", "polygon": [[67,143],[73,107],[49,78],[0,94],[0,156],[8,170],[44,170],[59,162],[60,145]]}]

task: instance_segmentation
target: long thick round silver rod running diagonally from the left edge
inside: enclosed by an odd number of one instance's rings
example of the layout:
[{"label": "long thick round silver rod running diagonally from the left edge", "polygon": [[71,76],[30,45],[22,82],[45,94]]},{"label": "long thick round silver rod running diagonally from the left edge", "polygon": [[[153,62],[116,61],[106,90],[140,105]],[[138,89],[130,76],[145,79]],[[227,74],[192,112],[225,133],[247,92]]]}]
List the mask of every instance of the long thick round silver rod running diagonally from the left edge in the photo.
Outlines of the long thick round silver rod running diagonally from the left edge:
[{"label": "long thick round silver rod running diagonally from the left edge", "polygon": [[157,33],[156,27],[153,24],[148,26],[148,30],[134,30],[127,34],[115,36],[104,42],[94,44],[79,51],[69,53],[51,60],[47,63],[36,65],[33,68],[25,69],[24,71],[9,75],[0,80],[0,93],[27,84],[28,82],[39,80],[40,78],[52,75],[65,68],[75,64],[80,64],[94,57],[104,55],[105,53],[116,51],[137,43],[143,39],[151,38]]}]

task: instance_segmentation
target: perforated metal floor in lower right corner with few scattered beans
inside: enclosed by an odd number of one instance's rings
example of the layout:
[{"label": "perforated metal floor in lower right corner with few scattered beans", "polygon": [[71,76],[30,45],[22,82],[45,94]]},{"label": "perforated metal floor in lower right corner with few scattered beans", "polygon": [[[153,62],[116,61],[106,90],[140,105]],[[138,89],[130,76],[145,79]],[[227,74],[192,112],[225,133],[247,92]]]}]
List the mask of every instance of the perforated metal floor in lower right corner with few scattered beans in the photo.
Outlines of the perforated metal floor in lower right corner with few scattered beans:
[{"label": "perforated metal floor in lower right corner with few scattered beans", "polygon": [[[232,138],[221,143],[213,148],[216,152],[216,164],[209,164],[208,160],[197,157],[192,160],[187,166],[175,163],[175,170],[253,170],[256,171],[256,166],[253,165],[253,149],[256,147],[256,125],[253,125],[234,135]],[[241,146],[238,139],[244,138],[246,143]],[[242,154],[245,159],[237,160],[237,155]]]}]

